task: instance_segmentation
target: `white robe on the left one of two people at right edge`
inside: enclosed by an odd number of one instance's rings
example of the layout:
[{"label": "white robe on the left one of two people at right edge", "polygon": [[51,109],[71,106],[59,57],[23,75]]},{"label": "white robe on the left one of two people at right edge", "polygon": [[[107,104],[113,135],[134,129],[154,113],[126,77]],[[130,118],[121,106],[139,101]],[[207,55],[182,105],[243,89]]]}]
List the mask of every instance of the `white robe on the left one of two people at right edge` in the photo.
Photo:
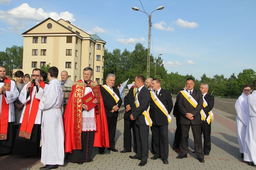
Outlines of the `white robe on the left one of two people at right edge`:
[{"label": "white robe on the left one of two people at right edge", "polygon": [[239,144],[240,153],[244,153],[244,138],[246,132],[246,126],[249,119],[249,111],[247,105],[247,95],[242,93],[241,96],[236,101],[236,111],[237,111],[237,139]]}]

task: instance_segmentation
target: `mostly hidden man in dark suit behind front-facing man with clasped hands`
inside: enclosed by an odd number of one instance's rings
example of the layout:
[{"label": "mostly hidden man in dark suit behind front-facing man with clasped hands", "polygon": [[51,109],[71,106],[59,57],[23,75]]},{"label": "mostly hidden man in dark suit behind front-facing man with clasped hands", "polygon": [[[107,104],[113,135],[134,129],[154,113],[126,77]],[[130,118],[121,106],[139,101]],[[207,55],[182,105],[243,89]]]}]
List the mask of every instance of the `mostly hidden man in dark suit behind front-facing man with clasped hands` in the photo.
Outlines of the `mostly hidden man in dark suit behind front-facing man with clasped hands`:
[{"label": "mostly hidden man in dark suit behind front-facing man with clasped hands", "polygon": [[[185,85],[185,87],[182,90],[187,90],[187,87]],[[173,116],[176,118],[176,130],[175,130],[175,135],[174,135],[174,140],[173,140],[173,150],[175,152],[181,152],[180,149],[180,144],[181,144],[181,124],[180,124],[180,110],[179,110],[179,106],[178,106],[178,98],[179,95],[181,95],[181,93],[179,93],[176,96],[176,102],[174,104],[173,107]]]}]

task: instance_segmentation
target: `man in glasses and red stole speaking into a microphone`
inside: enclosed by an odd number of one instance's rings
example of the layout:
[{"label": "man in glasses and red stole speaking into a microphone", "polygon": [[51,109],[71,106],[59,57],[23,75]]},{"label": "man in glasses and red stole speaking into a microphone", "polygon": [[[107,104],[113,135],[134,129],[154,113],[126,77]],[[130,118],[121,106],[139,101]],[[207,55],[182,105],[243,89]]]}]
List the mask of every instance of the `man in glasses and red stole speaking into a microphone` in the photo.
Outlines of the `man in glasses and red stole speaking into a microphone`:
[{"label": "man in glasses and red stole speaking into a microphone", "polygon": [[34,68],[32,82],[24,86],[19,95],[19,101],[24,104],[20,125],[18,128],[13,154],[24,155],[25,158],[31,155],[41,157],[41,116],[39,103],[44,88],[48,84],[41,81],[42,70]]}]

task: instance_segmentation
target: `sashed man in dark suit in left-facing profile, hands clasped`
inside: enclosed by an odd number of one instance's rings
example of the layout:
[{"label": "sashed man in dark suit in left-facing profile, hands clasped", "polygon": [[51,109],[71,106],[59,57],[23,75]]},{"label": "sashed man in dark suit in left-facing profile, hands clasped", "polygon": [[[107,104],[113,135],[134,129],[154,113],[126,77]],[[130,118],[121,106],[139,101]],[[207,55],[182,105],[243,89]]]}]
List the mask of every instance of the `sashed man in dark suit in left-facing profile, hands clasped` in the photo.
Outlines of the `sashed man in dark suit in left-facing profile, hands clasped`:
[{"label": "sashed man in dark suit in left-facing profile, hands clasped", "polygon": [[136,92],[132,109],[131,120],[135,121],[135,134],[137,142],[137,153],[135,156],[129,156],[131,159],[139,159],[141,162],[139,166],[145,166],[148,158],[148,133],[149,125],[152,121],[149,113],[146,113],[150,105],[150,91],[144,86],[145,77],[139,75],[135,78],[135,87],[138,89]]}]

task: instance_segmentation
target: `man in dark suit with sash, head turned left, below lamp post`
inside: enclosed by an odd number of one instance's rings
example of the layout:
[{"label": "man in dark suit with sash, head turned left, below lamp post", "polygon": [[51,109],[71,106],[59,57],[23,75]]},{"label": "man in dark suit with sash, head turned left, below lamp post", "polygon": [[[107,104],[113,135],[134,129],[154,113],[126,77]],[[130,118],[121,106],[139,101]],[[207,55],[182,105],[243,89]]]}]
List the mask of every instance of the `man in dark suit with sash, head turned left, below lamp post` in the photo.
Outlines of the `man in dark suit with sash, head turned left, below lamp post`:
[{"label": "man in dark suit with sash, head turned left, below lamp post", "polygon": [[161,88],[161,80],[153,79],[152,89],[154,90],[150,101],[150,118],[152,119],[152,136],[156,155],[151,157],[155,160],[162,158],[163,164],[168,164],[169,141],[168,122],[171,122],[172,95],[169,91]]}]

